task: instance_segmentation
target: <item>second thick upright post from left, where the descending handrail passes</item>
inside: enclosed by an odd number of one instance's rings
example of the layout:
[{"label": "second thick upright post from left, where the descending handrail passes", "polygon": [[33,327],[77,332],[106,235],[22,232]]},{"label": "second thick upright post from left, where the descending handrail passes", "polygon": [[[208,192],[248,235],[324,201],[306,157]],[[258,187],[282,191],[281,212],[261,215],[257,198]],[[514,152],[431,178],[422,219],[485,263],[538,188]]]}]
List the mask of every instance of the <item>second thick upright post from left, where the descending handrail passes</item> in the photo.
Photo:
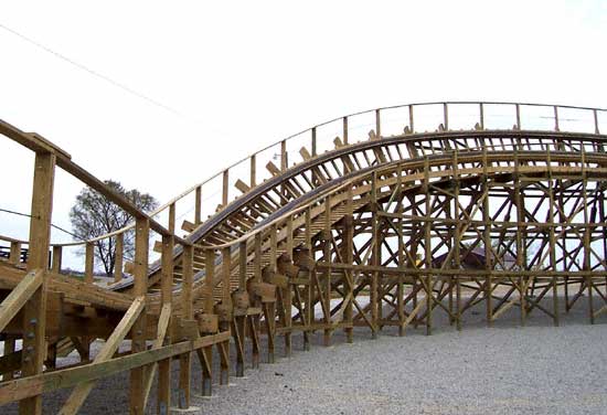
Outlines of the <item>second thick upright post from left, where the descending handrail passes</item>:
[{"label": "second thick upright post from left, where the descending handrail passes", "polygon": [[[135,224],[135,297],[145,296],[148,291],[148,245],[150,223],[147,217],[137,217]],[[146,310],[141,311],[131,329],[131,352],[146,350]],[[130,371],[129,411],[131,414],[143,414],[145,411],[145,375],[146,368]]]}]

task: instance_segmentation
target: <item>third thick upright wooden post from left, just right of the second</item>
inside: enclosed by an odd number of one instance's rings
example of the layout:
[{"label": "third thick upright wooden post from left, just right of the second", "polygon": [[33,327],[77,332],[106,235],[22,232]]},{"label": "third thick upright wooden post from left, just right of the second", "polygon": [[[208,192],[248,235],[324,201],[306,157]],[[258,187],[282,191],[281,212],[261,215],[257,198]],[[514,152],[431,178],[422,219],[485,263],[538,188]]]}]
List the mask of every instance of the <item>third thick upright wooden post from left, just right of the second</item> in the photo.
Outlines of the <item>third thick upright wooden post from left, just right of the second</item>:
[{"label": "third thick upright wooden post from left, just right of the second", "polygon": [[[174,247],[174,221],[175,205],[169,206],[169,232],[171,235],[162,235],[162,257],[161,257],[161,291],[160,302],[162,307],[172,306],[173,301],[173,247]],[[169,321],[171,327],[171,321]],[[170,330],[167,331],[164,343],[170,344]],[[164,359],[158,362],[158,413],[168,414],[171,407],[171,360]]]}]

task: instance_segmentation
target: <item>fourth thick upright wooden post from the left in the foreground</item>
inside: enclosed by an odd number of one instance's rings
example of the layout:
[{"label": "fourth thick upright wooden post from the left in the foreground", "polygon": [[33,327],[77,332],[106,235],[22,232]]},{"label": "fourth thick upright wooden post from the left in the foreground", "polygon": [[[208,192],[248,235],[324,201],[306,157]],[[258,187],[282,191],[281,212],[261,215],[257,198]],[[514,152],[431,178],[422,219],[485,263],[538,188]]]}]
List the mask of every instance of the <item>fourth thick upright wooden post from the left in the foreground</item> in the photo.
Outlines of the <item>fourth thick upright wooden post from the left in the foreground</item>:
[{"label": "fourth thick upright wooden post from the left in the foreground", "polygon": [[[181,289],[181,307],[183,307],[183,318],[192,320],[194,318],[192,285],[194,279],[194,247],[192,245],[183,246],[181,259],[181,269],[183,273],[183,284]],[[179,357],[179,407],[185,409],[190,407],[191,400],[191,372],[192,353],[183,353]]]}]

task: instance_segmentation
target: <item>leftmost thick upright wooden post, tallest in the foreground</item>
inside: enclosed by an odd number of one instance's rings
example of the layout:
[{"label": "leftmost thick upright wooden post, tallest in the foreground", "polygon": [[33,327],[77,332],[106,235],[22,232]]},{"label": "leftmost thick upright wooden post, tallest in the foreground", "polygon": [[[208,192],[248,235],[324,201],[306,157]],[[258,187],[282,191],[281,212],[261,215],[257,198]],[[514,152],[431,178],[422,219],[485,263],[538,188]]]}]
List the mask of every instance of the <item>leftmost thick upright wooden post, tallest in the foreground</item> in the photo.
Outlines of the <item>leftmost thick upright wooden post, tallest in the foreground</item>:
[{"label": "leftmost thick upright wooden post, tallest in the foreground", "polygon": [[[51,215],[53,211],[53,184],[55,156],[38,152],[34,161],[32,210],[30,220],[30,256],[28,270],[49,269],[51,243]],[[46,326],[46,277],[42,286],[23,306],[23,352],[21,376],[42,373],[45,354],[44,330]],[[34,395],[19,403],[22,415],[42,413],[42,395]]]}]

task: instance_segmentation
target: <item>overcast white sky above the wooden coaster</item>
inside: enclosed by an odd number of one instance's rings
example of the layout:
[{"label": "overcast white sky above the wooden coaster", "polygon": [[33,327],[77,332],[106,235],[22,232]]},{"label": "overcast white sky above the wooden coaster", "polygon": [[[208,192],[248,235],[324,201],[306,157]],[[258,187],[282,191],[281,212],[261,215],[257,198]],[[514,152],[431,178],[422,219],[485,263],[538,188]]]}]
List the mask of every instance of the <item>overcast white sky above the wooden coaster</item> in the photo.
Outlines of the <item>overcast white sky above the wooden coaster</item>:
[{"label": "overcast white sky above the wooden coaster", "polygon": [[[0,24],[179,113],[0,28],[0,118],[161,202],[361,109],[607,107],[607,1],[19,1],[0,6]],[[31,155],[0,140],[0,208],[28,212]],[[68,226],[81,187],[58,174],[53,222]],[[0,214],[0,234],[28,231]]]}]

